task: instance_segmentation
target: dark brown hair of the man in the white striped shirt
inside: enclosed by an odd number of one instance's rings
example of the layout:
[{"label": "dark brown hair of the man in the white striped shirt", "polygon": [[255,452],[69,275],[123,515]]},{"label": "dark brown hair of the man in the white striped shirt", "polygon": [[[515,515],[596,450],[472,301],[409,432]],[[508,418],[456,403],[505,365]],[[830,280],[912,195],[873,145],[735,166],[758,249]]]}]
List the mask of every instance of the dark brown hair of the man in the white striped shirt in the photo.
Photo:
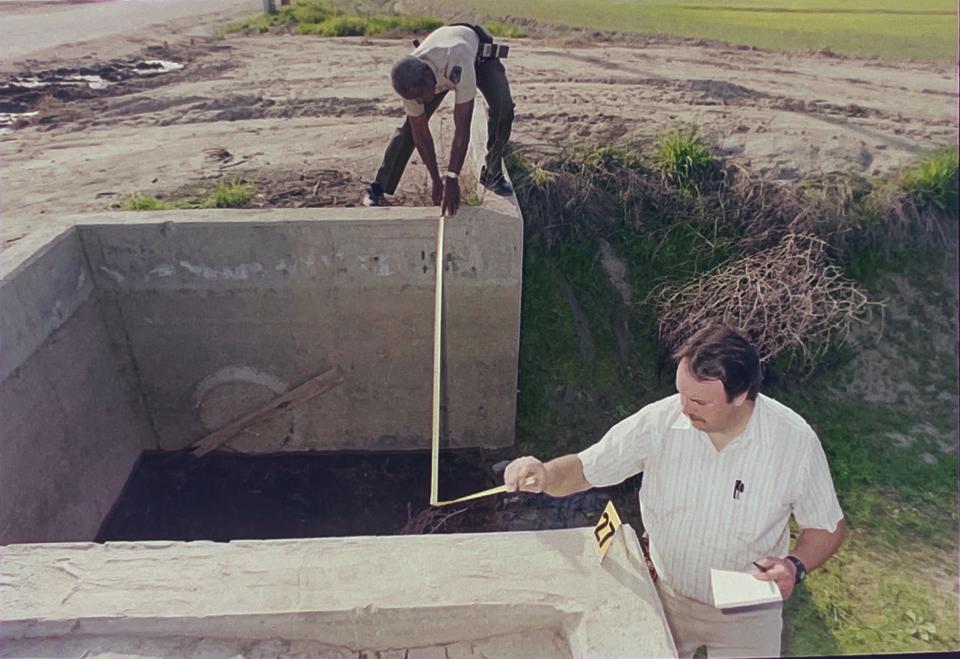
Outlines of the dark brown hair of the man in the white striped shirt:
[{"label": "dark brown hair of the man in the white striped shirt", "polygon": [[676,352],[686,359],[698,380],[720,380],[731,401],[744,391],[749,400],[760,393],[762,371],[757,351],[742,334],[725,325],[709,325],[687,339]]}]

